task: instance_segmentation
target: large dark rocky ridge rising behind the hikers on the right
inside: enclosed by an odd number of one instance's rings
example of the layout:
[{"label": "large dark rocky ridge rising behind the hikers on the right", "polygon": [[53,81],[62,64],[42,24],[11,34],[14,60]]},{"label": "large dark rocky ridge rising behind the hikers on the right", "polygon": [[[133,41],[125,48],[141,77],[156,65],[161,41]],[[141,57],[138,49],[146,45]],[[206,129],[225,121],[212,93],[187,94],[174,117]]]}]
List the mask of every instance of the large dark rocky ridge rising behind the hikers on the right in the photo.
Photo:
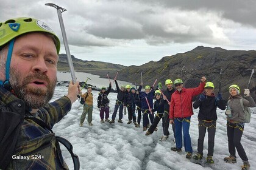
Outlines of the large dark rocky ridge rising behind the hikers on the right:
[{"label": "large dark rocky ridge rising behind the hikers on the right", "polygon": [[[125,80],[132,83],[140,83],[141,73],[143,72],[143,84],[150,85],[157,78],[165,87],[165,80],[171,78],[182,78],[185,87],[196,87],[199,84],[199,78],[193,75],[181,72],[182,67],[195,75],[205,76],[208,81],[215,84],[215,93],[219,87],[219,72],[223,69],[221,91],[224,98],[229,97],[228,88],[231,84],[238,84],[242,92],[247,86],[251,70],[256,69],[256,51],[255,50],[225,50],[220,47],[198,46],[195,49],[177,53],[172,56],[165,56],[160,61],[150,61],[141,66],[129,66],[119,71],[118,80]],[[252,97],[256,100],[255,87],[256,73],[252,78],[251,90]]]}]

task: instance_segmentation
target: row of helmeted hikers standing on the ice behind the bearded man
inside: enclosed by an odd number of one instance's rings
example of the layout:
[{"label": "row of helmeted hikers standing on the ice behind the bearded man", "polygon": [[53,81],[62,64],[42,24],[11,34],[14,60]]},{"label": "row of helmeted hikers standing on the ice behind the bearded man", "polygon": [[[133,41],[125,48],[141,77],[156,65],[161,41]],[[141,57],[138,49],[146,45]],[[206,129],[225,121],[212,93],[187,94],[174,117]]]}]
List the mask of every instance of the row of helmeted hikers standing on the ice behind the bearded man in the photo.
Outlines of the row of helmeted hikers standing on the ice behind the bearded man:
[{"label": "row of helmeted hikers standing on the ice behind the bearded man", "polygon": [[[187,152],[186,158],[193,158],[194,160],[201,160],[203,158],[204,138],[206,131],[208,132],[208,154],[206,157],[207,163],[214,163],[213,151],[215,145],[215,132],[216,132],[216,120],[217,120],[217,107],[221,110],[226,110],[226,103],[222,100],[222,95],[215,95],[215,86],[212,82],[207,81],[205,77],[202,77],[201,83],[198,87],[193,89],[187,89],[183,87],[183,81],[176,79],[174,81],[174,87],[172,87],[172,81],[170,79],[165,81],[166,89],[162,90],[157,86],[157,90],[154,87],[145,86],[144,92],[141,91],[142,84],[138,89],[131,87],[130,85],[121,86],[119,89],[118,83],[116,83],[117,99],[115,103],[115,109],[112,115],[112,120],[108,120],[109,117],[109,100],[107,95],[110,92],[112,84],[110,83],[108,89],[102,87],[98,97],[98,108],[100,110],[101,122],[105,121],[109,123],[115,123],[117,111],[119,109],[118,122],[123,123],[123,109],[127,108],[128,119],[127,124],[133,123],[135,127],[140,127],[141,113],[143,114],[143,131],[145,135],[151,135],[154,131],[157,131],[157,125],[162,119],[163,136],[160,137],[160,141],[165,141],[169,137],[169,124],[172,124],[172,131],[174,134],[176,146],[172,147],[172,151],[182,151],[182,134],[185,152]],[[89,87],[91,88],[91,87]],[[225,157],[224,161],[229,163],[236,163],[237,150],[241,159],[244,162],[242,169],[249,169],[249,161],[241,145],[241,136],[244,129],[244,111],[240,104],[241,90],[236,84],[229,87],[230,97],[228,101],[229,109],[226,110],[227,115],[227,137],[229,141],[230,156]],[[196,101],[192,104],[193,97],[197,96]],[[249,95],[249,90],[244,91],[245,98],[243,100],[243,106],[255,107],[256,104],[252,97]],[[82,95],[85,96],[85,95]],[[191,146],[190,138],[190,119],[193,115],[194,109],[199,108],[198,114],[198,129],[199,138],[197,140],[197,154],[193,155],[193,149]],[[136,120],[136,111],[138,113],[138,119]],[[85,110],[84,110],[85,112]],[[126,113],[126,112],[125,112]],[[83,113],[84,114],[84,113]],[[82,114],[81,123],[84,119]],[[91,114],[91,113],[90,113]],[[91,116],[90,116],[91,117]],[[151,126],[149,126],[149,120]],[[88,120],[88,121],[91,121]],[[89,122],[90,123],[90,122]],[[236,150],[235,150],[236,149]]]}]

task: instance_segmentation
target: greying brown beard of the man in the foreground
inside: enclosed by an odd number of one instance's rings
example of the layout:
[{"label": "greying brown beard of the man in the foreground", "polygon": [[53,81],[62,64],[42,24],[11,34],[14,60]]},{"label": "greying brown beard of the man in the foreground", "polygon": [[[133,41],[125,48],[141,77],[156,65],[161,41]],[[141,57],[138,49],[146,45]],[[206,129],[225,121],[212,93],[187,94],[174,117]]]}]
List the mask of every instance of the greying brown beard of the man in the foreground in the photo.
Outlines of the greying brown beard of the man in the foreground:
[{"label": "greying brown beard of the man in the foreground", "polygon": [[[10,84],[14,94],[32,109],[44,107],[54,94],[57,78],[50,81],[46,75],[35,73],[33,75],[28,75],[24,80],[20,80],[19,74],[18,71],[10,69]],[[48,82],[47,90],[28,87],[28,83],[35,78]]]}]

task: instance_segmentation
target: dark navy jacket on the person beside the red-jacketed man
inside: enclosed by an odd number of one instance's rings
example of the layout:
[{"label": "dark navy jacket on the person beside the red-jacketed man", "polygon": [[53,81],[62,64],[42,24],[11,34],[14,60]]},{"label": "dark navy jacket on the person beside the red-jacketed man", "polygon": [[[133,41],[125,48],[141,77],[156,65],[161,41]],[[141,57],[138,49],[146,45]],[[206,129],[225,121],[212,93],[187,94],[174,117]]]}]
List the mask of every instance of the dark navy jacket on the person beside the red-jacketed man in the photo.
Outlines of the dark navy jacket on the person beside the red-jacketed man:
[{"label": "dark navy jacket on the person beside the red-jacketed man", "polygon": [[205,95],[205,100],[200,101],[199,95],[193,104],[194,109],[199,107],[198,118],[201,120],[217,120],[217,107],[219,107],[221,110],[225,110],[226,104],[223,100],[216,98],[215,94],[212,94],[212,96],[207,96],[204,92],[201,95]]}]

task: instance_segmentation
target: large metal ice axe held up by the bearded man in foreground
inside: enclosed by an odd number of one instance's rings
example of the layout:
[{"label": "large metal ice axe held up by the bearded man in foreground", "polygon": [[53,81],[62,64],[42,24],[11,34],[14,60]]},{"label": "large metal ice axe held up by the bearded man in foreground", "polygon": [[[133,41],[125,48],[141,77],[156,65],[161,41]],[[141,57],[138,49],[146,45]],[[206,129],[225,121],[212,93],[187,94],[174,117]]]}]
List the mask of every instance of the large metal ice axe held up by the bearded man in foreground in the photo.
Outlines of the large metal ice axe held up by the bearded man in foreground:
[{"label": "large metal ice axe held up by the bearded man in foreground", "polygon": [[74,84],[74,83],[76,83],[76,75],[75,75],[75,72],[74,72],[74,66],[73,66],[71,55],[70,55],[70,50],[69,50],[69,47],[68,47],[68,39],[66,38],[66,31],[65,31],[65,27],[64,27],[64,23],[63,23],[63,19],[62,19],[62,12],[65,12],[66,9],[63,9],[62,7],[59,7],[58,5],[55,5],[55,4],[52,4],[52,3],[47,3],[45,5],[48,5],[50,7],[54,7],[55,9],[57,9],[57,14],[58,14],[58,17],[59,17],[59,22],[60,22],[60,29],[62,30],[62,38],[63,38],[65,50],[66,50],[66,56],[68,58],[68,66],[69,66],[70,73],[71,73],[71,78],[72,78],[72,81],[73,81],[73,84]]}]

